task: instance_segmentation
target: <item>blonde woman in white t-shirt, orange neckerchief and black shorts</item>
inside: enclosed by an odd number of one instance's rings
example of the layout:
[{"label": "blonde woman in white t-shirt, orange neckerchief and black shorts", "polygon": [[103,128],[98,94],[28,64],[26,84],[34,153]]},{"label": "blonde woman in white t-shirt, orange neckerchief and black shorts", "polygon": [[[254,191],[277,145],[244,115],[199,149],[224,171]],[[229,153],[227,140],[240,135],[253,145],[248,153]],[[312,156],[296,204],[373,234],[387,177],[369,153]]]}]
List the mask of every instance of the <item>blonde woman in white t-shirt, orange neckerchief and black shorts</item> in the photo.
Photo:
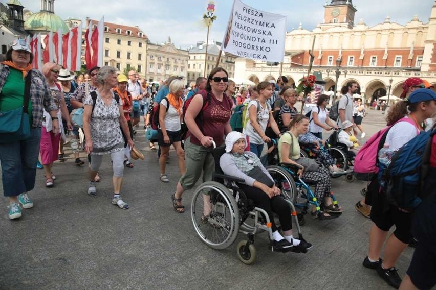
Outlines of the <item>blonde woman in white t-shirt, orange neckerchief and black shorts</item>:
[{"label": "blonde woman in white t-shirt, orange neckerchief and black shorts", "polygon": [[159,105],[159,130],[158,143],[161,149],[159,156],[159,170],[161,181],[169,182],[165,173],[166,160],[168,158],[169,147],[176,150],[179,159],[180,174],[184,175],[185,168],[185,151],[182,149],[182,139],[180,137],[182,109],[183,109],[183,88],[185,83],[182,80],[173,80],[169,84],[169,94],[161,101]]}]

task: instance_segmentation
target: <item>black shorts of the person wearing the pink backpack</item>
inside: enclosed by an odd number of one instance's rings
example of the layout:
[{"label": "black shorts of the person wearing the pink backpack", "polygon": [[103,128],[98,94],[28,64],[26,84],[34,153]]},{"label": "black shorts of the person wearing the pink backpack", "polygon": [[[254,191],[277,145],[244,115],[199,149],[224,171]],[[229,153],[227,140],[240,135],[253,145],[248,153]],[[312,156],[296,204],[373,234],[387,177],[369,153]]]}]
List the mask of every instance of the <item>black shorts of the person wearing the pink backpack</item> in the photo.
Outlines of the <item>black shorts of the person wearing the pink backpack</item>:
[{"label": "black shorts of the person wearing the pink backpack", "polygon": [[382,231],[389,231],[395,225],[394,235],[403,243],[409,244],[412,240],[410,232],[412,213],[402,212],[386,200],[386,194],[376,193],[372,197],[371,220]]}]

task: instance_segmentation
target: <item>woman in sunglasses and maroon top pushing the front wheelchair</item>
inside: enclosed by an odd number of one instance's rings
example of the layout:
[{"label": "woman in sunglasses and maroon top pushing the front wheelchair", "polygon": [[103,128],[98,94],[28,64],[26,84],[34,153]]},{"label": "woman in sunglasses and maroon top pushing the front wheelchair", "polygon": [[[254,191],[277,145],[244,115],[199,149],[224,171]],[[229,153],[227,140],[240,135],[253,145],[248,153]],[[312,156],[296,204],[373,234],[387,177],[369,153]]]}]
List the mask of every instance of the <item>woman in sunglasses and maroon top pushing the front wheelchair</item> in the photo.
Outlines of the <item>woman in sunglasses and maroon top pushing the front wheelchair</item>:
[{"label": "woman in sunglasses and maroon top pushing the front wheelchair", "polygon": [[[176,192],[171,196],[173,208],[178,213],[185,212],[182,205],[183,192],[195,185],[202,172],[203,182],[212,180],[215,170],[213,144],[221,146],[224,143],[224,135],[232,131],[229,120],[233,102],[224,93],[228,80],[224,68],[212,69],[207,78],[206,89],[200,90],[192,97],[185,112],[185,123],[189,129],[185,139],[186,172],[177,183]],[[210,207],[206,196],[204,201],[206,206],[203,214],[207,216],[210,211],[206,211]]]}]

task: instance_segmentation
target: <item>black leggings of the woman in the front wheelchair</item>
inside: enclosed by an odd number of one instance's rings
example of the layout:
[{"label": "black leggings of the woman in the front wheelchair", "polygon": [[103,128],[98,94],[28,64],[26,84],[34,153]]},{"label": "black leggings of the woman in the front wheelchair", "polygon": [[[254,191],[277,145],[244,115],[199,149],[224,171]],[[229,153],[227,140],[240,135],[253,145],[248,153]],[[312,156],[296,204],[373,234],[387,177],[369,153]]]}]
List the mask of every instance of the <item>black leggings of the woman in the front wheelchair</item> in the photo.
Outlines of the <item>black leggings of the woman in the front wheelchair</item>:
[{"label": "black leggings of the woman in the front wheelchair", "polygon": [[274,213],[278,215],[282,231],[292,229],[291,206],[281,196],[275,196],[270,199],[264,191],[256,187],[242,183],[238,183],[237,186],[244,191],[247,198],[254,201],[257,207],[268,213],[270,222],[272,223],[271,230],[273,232],[277,230],[277,226],[274,223]]}]

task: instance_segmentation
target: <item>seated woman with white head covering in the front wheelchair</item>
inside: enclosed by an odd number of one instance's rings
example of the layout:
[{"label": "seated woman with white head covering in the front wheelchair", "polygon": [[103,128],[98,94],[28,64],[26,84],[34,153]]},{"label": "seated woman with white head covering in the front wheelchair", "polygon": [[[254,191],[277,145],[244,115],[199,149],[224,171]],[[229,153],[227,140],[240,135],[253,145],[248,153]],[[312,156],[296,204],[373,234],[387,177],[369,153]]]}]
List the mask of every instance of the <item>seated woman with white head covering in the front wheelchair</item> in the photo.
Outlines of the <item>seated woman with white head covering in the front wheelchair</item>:
[{"label": "seated woman with white head covering in the front wheelchair", "polygon": [[[220,158],[224,174],[244,179],[236,183],[254,201],[255,206],[264,209],[272,223],[273,244],[284,251],[306,252],[312,245],[292,236],[291,207],[280,196],[280,189],[274,185],[271,175],[252,152],[245,152],[248,144],[245,135],[231,132],[226,137],[226,153]],[[278,215],[284,236],[277,230],[274,213]]]}]

